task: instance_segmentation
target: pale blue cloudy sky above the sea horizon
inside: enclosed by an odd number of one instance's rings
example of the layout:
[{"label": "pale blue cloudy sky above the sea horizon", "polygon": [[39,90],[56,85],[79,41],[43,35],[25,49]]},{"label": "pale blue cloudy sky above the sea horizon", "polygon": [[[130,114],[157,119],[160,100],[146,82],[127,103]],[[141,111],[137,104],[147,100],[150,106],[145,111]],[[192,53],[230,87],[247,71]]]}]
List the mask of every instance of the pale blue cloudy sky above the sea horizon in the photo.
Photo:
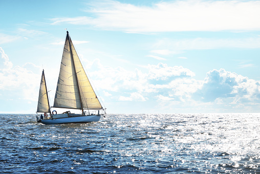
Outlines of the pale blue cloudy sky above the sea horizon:
[{"label": "pale blue cloudy sky above the sea horizon", "polygon": [[66,31],[107,113],[260,111],[260,1],[0,0],[0,113],[53,105]]}]

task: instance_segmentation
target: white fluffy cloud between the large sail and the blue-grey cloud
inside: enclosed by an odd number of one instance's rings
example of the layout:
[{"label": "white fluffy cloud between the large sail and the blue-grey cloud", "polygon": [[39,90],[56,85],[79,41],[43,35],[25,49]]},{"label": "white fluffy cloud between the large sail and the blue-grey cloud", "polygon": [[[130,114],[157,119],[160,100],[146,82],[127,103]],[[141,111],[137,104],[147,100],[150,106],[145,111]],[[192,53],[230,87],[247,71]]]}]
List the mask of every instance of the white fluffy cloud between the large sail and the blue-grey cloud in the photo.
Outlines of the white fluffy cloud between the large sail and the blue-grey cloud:
[{"label": "white fluffy cloud between the large sail and the blue-grey cloud", "polygon": [[[133,92],[145,95],[147,93],[158,93],[160,90],[170,88],[169,82],[172,80],[191,78],[195,75],[182,66],[171,67],[163,63],[147,65],[142,69],[136,68],[133,71],[122,67],[103,66],[99,60],[87,64],[89,65],[88,71],[91,72],[91,79],[95,79],[93,81],[95,86],[113,94],[113,96]],[[127,97],[129,99],[129,96]]]}]

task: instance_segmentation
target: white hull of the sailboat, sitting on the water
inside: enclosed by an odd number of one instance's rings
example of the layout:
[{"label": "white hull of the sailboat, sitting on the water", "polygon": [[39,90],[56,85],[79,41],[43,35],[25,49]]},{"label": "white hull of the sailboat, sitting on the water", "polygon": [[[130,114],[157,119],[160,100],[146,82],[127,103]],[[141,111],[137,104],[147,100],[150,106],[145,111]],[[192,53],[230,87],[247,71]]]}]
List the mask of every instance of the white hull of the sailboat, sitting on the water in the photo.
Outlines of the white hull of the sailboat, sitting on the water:
[{"label": "white hull of the sailboat, sitting on the water", "polygon": [[88,123],[88,122],[98,122],[100,120],[100,117],[101,115],[86,115],[81,117],[40,120],[40,123],[42,124]]}]

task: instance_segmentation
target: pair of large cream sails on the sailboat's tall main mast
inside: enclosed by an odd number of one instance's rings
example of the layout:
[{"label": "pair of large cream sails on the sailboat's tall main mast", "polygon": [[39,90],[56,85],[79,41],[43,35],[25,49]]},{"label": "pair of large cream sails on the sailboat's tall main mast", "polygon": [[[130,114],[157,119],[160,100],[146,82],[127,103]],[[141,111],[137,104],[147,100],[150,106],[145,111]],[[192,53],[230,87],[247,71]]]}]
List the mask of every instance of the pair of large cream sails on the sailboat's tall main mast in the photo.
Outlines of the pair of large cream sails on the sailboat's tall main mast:
[{"label": "pair of large cream sails on the sailboat's tall main mast", "polygon": [[53,107],[102,109],[67,31]]}]

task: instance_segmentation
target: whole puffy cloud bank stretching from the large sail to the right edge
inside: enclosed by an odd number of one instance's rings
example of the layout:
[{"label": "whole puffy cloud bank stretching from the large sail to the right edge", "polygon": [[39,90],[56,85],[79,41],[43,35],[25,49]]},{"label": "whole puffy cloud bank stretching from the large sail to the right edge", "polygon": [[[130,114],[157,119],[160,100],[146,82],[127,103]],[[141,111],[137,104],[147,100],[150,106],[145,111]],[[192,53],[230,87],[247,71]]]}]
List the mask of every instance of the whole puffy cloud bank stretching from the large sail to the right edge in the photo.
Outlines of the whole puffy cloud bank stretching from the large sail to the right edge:
[{"label": "whole puffy cloud bank stretching from the large sail to the right edge", "polygon": [[121,102],[142,101],[164,109],[201,111],[205,108],[243,110],[260,104],[260,82],[225,69],[214,69],[207,72],[204,80],[197,80],[194,72],[182,66],[159,63],[142,68],[129,71],[99,66],[91,76],[105,90],[104,95]]}]

